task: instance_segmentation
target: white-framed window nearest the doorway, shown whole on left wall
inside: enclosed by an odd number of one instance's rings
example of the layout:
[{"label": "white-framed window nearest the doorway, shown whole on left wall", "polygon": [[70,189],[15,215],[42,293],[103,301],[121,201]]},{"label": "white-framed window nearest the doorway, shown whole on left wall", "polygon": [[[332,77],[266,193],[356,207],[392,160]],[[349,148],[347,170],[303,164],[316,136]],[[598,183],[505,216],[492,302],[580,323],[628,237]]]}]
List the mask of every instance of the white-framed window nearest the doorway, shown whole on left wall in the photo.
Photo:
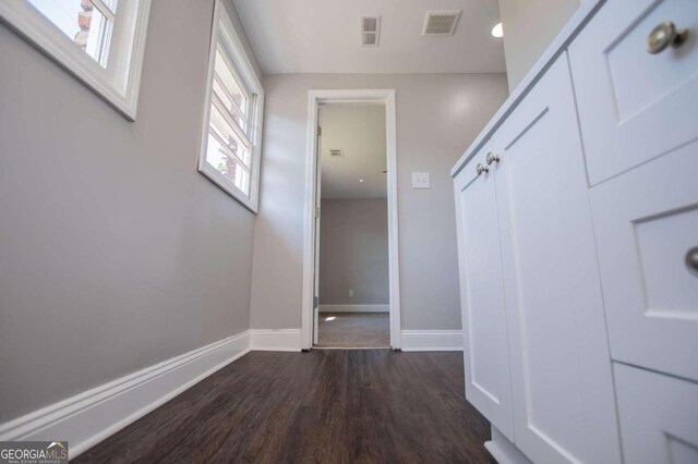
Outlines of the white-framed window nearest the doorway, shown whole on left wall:
[{"label": "white-framed window nearest the doorway, shown whole on left wall", "polygon": [[264,91],[216,1],[198,170],[256,212]]}]

